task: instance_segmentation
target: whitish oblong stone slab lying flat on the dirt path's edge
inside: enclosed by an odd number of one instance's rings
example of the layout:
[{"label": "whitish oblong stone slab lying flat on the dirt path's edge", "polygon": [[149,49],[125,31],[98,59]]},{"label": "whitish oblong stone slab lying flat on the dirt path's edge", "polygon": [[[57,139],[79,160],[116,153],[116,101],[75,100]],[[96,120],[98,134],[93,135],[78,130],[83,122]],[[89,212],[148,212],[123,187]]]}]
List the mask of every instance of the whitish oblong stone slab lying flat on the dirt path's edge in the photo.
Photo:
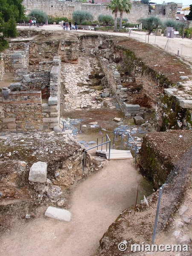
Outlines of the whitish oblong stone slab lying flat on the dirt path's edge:
[{"label": "whitish oblong stone slab lying flat on the dirt path's edge", "polygon": [[58,209],[56,207],[49,206],[45,212],[45,216],[55,218],[60,221],[70,221],[71,213],[65,209]]}]

